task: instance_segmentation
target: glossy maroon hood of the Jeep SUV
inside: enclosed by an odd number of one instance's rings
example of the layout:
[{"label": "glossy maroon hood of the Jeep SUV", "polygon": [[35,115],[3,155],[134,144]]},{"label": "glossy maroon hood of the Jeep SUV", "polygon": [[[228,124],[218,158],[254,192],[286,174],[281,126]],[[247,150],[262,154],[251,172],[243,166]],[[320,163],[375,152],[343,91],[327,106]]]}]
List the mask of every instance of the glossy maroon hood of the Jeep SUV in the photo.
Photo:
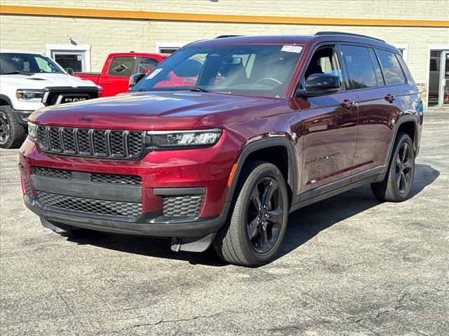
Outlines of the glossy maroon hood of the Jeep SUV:
[{"label": "glossy maroon hood of the Jeep SUV", "polygon": [[41,125],[111,130],[188,130],[203,116],[275,101],[218,92],[138,92],[49,106],[29,120]]}]

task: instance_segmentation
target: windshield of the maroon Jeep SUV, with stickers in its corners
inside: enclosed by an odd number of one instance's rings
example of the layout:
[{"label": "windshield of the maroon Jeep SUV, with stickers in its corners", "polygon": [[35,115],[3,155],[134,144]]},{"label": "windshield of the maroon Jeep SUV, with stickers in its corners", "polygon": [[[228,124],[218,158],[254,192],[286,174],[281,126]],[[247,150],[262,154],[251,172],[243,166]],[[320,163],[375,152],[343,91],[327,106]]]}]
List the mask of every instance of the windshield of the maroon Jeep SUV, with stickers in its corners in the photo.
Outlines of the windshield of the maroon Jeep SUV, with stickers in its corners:
[{"label": "windshield of the maroon Jeep SUV, with stickers in its corners", "polygon": [[220,45],[183,48],[156,66],[132,91],[220,91],[283,97],[299,45]]}]

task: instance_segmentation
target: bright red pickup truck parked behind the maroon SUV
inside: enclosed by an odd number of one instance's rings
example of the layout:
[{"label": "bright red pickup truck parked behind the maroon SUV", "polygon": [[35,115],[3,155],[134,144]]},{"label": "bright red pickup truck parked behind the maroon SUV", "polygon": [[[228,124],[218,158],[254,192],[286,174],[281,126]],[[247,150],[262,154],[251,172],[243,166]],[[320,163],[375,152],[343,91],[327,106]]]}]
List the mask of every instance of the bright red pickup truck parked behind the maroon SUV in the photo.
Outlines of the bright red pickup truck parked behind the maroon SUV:
[{"label": "bright red pickup truck parked behind the maroon SUV", "polygon": [[128,82],[134,73],[148,73],[166,59],[168,54],[146,52],[116,52],[110,54],[99,72],[78,72],[74,76],[92,80],[103,87],[101,97],[114,96],[129,90]]}]

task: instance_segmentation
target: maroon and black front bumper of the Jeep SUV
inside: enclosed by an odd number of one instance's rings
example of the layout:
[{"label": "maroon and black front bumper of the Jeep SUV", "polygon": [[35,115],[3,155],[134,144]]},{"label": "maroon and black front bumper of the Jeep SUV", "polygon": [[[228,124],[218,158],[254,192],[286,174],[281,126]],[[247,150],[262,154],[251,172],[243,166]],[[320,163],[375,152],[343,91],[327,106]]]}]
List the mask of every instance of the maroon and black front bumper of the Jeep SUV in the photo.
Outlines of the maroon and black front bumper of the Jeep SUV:
[{"label": "maroon and black front bumper of the Jeep SUV", "polygon": [[[43,153],[27,139],[19,167],[25,204],[51,223],[153,237],[205,237],[227,218],[227,180],[235,153],[219,142],[210,148],[151,152],[139,161],[101,160]],[[139,181],[107,183],[94,175]],[[185,195],[187,207],[201,196],[194,215],[179,203]]]}]

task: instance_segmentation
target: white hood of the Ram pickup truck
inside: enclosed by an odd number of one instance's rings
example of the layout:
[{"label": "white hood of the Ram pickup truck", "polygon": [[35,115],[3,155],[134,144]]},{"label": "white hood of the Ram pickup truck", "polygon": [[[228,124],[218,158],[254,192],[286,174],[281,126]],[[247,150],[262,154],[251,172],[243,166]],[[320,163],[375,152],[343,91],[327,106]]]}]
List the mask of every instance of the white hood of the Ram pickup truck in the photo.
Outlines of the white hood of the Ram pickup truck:
[{"label": "white hood of the Ram pickup truck", "polygon": [[45,87],[96,86],[91,80],[83,80],[67,73],[33,73],[32,75],[1,75],[1,81],[20,89],[43,89]]}]

